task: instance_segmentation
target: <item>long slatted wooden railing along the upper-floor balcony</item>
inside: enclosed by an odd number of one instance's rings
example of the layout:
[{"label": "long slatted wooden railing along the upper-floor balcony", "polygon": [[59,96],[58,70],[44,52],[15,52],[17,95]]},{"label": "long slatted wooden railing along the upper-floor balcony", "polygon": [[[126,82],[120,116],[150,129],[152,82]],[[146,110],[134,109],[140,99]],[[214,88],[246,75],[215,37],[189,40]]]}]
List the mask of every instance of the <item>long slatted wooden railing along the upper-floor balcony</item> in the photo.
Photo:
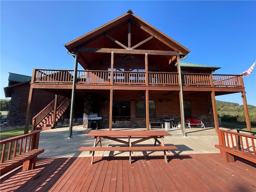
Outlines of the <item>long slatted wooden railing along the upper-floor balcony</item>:
[{"label": "long slatted wooden railing along the upper-floor balcony", "polygon": [[[72,84],[73,70],[36,69],[33,83]],[[148,85],[179,86],[178,73],[148,72]],[[78,70],[76,84],[110,84],[111,72]],[[113,84],[146,85],[146,72],[114,71]],[[242,75],[182,73],[184,86],[242,87]]]}]

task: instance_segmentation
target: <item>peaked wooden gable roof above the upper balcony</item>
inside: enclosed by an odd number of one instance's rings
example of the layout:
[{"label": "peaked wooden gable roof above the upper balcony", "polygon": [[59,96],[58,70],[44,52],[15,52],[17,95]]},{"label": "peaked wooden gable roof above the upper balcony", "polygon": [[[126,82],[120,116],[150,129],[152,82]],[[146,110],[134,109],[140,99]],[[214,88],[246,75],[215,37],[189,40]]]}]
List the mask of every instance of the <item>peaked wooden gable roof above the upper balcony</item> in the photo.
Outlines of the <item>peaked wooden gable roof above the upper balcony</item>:
[{"label": "peaked wooden gable roof above the upper balcony", "polygon": [[[88,32],[66,44],[64,46],[67,48],[69,52],[76,51],[76,48],[80,48],[84,46],[85,44],[88,44],[92,40],[95,40],[95,38],[98,38],[99,36],[102,36],[104,34],[108,34],[112,32],[112,37],[114,36],[114,33],[118,38],[120,38],[118,41],[119,42],[125,42],[127,41],[127,29],[128,29],[128,24],[127,26],[125,25],[126,23],[131,22],[133,26],[136,26],[139,29],[136,29],[136,32],[140,32],[140,34],[144,33],[148,35],[147,37],[153,36],[154,39],[158,40],[159,43],[164,44],[165,46],[169,47],[169,50],[173,51],[180,51],[180,55],[186,55],[190,52],[190,50],[160,30],[156,29],[154,26],[149,24],[148,22],[142,20],[138,16],[132,13],[131,10],[128,10],[126,14],[123,14],[122,16],[119,16],[118,18],[92,30],[91,32]],[[132,28],[132,26],[131,26]],[[133,27],[134,29],[135,27]],[[118,29],[118,30],[117,30]],[[132,30],[132,29],[131,29]],[[122,36],[126,32],[126,36]],[[137,34],[136,34],[137,35]],[[110,35],[111,36],[111,35]],[[114,37],[115,38],[115,37]],[[136,36],[132,36],[131,38],[136,38]],[[142,38],[142,35],[140,35],[140,38]],[[108,39],[108,38],[106,38]],[[140,39],[140,41],[143,39]],[[101,43],[102,46],[100,47],[95,47],[95,48],[102,48],[104,47],[104,40],[100,39],[98,42]],[[136,42],[136,40],[133,40],[133,42]],[[95,45],[95,44],[94,44]],[[99,44],[98,44],[99,45]],[[90,47],[94,47],[92,44],[90,44]]]}]

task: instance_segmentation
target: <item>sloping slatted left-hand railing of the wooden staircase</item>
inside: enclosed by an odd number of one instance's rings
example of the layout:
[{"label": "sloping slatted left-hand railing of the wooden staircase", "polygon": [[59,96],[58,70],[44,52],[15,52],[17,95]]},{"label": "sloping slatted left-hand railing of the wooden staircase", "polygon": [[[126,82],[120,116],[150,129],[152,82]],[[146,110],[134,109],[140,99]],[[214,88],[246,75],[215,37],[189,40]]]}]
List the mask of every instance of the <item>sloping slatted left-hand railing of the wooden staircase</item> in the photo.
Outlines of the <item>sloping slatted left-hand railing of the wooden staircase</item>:
[{"label": "sloping slatted left-hand railing of the wooden staircase", "polygon": [[[58,100],[62,101],[64,97],[58,96]],[[54,110],[54,102],[55,99],[52,100],[45,108],[43,108],[36,116],[32,118],[32,128],[31,130],[35,130],[36,126],[52,111]]]}]

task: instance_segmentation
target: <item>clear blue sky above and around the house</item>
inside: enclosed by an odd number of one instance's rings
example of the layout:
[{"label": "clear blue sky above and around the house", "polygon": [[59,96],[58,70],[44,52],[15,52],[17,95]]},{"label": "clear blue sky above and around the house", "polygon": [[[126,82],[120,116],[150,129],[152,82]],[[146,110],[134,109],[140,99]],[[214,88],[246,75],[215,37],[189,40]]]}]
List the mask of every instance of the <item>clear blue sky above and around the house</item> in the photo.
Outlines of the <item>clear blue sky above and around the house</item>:
[{"label": "clear blue sky above and around the house", "polygon": [[[8,72],[73,69],[63,44],[132,9],[191,52],[184,62],[240,74],[256,61],[256,1],[0,1],[0,98]],[[247,103],[256,106],[256,69],[244,76]],[[241,94],[216,96],[243,104]]]}]

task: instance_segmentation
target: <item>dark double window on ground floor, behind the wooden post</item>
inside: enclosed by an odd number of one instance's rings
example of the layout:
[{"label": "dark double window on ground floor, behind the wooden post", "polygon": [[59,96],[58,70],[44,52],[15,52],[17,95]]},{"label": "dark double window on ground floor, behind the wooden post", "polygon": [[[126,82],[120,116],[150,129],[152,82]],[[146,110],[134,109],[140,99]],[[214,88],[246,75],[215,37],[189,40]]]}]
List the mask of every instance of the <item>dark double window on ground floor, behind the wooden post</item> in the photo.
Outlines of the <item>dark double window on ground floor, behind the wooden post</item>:
[{"label": "dark double window on ground floor, behind the wooden post", "polygon": [[[156,118],[156,102],[148,101],[149,105],[149,117]],[[136,101],[136,118],[145,118],[146,117],[146,102],[145,101]]]}]

